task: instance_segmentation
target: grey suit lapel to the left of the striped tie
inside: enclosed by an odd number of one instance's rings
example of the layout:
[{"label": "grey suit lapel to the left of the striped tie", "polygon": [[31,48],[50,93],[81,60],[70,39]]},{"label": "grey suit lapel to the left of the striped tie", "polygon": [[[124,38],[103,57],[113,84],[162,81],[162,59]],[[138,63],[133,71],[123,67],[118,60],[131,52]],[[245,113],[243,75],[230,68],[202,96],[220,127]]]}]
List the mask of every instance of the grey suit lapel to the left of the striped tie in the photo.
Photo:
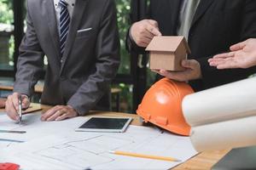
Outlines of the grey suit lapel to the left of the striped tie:
[{"label": "grey suit lapel to the left of the striped tie", "polygon": [[55,48],[55,54],[58,60],[61,59],[60,53],[60,38],[56,22],[55,7],[53,1],[44,0],[44,8],[46,10],[46,20],[49,27],[49,34]]}]

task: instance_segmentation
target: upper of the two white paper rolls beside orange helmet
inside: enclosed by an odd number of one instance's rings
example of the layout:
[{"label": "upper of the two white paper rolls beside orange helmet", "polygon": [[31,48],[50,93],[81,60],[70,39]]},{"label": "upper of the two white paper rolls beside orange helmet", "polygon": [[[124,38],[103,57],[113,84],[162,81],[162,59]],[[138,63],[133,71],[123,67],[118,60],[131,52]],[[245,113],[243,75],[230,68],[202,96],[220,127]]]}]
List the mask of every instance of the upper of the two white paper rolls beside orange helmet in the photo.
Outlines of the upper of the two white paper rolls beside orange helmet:
[{"label": "upper of the two white paper rolls beside orange helmet", "polygon": [[256,77],[189,94],[183,114],[191,127],[256,116]]}]

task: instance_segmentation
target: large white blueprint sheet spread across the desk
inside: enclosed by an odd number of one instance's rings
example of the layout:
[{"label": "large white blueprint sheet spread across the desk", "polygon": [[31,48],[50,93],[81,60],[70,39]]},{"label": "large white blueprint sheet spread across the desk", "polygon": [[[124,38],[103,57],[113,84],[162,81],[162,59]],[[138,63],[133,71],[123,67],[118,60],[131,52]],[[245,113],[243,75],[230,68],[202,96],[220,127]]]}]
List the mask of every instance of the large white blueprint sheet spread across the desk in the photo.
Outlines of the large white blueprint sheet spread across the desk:
[{"label": "large white blueprint sheet spread across the desk", "polygon": [[[30,122],[17,127],[0,116],[1,128],[2,120],[9,130],[27,132],[0,134],[0,139],[25,141],[1,148],[0,162],[18,163],[21,169],[169,169],[197,154],[188,137],[160,133],[152,127],[130,126],[125,133],[85,133],[73,130],[84,122],[84,117],[63,122],[40,122],[39,117],[40,114],[27,116]],[[182,161],[117,156],[109,154],[109,150],[172,156]]]}]

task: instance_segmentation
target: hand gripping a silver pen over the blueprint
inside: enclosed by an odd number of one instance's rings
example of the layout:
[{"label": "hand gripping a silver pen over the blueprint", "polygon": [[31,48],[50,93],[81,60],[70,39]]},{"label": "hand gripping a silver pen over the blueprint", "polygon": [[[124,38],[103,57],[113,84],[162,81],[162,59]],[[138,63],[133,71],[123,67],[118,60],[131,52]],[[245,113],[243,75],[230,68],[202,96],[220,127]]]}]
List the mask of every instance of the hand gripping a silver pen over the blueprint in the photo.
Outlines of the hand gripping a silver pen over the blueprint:
[{"label": "hand gripping a silver pen over the blueprint", "polygon": [[28,108],[30,101],[25,94],[14,93],[8,96],[5,104],[7,115],[14,121],[22,120],[22,109]]}]

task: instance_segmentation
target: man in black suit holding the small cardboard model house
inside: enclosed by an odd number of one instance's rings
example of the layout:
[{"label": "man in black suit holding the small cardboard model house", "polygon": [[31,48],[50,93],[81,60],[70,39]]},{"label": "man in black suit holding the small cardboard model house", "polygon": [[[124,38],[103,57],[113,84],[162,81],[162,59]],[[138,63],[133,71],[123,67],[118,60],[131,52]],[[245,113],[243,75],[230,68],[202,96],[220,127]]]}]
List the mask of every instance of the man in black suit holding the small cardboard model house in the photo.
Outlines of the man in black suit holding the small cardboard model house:
[{"label": "man in black suit holding the small cardboard model house", "polygon": [[149,20],[131,26],[127,39],[129,50],[144,53],[154,36],[187,37],[192,54],[182,62],[186,70],[157,72],[177,81],[189,81],[195,91],[234,82],[255,73],[255,67],[220,71],[211,67],[207,60],[229,51],[230,45],[236,42],[256,37],[256,1],[196,1],[190,4],[195,0],[151,0]]}]

